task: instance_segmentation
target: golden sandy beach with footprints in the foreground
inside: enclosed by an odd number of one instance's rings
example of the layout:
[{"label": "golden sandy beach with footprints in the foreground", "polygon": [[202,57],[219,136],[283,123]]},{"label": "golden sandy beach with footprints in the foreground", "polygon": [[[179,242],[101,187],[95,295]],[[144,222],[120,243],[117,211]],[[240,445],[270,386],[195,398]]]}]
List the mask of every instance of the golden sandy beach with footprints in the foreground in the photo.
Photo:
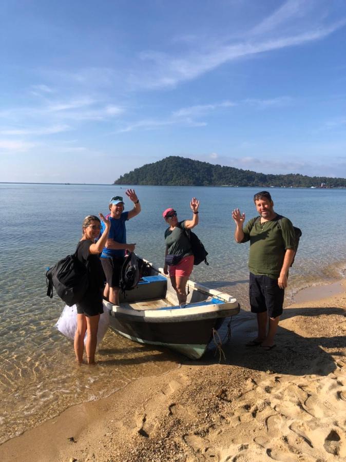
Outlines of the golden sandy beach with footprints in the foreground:
[{"label": "golden sandy beach with footprints in the foreground", "polygon": [[270,352],[244,347],[256,323],[242,311],[226,360],[182,357],[5,442],[0,460],[346,460],[346,280],[297,299]]}]

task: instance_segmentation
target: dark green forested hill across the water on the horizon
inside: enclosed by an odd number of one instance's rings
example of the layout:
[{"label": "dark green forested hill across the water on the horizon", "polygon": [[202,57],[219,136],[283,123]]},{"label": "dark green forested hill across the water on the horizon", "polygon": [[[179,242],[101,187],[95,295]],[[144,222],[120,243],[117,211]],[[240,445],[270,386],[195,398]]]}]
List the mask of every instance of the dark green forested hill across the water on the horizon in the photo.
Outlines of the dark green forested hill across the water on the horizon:
[{"label": "dark green forested hill across the water on the horizon", "polygon": [[169,186],[286,186],[346,187],[345,178],[307,177],[299,174],[265,175],[251,170],[223,167],[185,157],[170,156],[152,164],[135,168],[114,184],[146,184]]}]

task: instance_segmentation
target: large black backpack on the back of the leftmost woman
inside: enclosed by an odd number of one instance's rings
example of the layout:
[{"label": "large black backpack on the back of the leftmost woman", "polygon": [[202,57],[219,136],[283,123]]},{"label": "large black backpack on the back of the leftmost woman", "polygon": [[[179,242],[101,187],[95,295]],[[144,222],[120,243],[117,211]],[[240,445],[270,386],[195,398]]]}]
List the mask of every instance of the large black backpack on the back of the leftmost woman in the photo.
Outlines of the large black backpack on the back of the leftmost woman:
[{"label": "large black backpack on the back of the leftmost woman", "polygon": [[88,268],[78,260],[76,253],[68,255],[49,268],[46,273],[47,295],[53,297],[53,286],[57,295],[68,305],[78,303],[89,285]]}]

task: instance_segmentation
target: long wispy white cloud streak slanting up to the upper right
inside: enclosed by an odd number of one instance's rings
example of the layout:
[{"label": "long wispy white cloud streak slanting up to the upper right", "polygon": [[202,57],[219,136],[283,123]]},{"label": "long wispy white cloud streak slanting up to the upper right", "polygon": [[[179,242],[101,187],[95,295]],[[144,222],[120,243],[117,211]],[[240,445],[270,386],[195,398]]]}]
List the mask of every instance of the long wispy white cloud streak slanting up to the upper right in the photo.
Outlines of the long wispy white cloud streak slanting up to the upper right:
[{"label": "long wispy white cloud streak slanting up to the upper right", "polygon": [[[129,77],[130,83],[135,87],[146,87],[157,89],[162,87],[174,87],[180,82],[198,78],[205,72],[209,72],[222,64],[237,60],[241,57],[249,57],[267,51],[278,50],[281,48],[292,47],[320,40],[343,27],[345,19],[333,24],[324,26],[317,24],[304,23],[300,27],[294,27],[295,31],[282,32],[272,30],[284,21],[294,20],[295,14],[302,14],[297,10],[298,5],[306,2],[287,2],[285,8],[276,15],[262,22],[259,31],[266,32],[263,37],[251,38],[251,34],[246,37],[246,41],[228,44],[213,43],[209,40],[204,44],[204,51],[190,51],[185,54],[173,56],[167,53],[154,50],[147,50],[140,53],[139,58],[146,64],[146,69],[141,66],[140,73],[132,72]],[[291,24],[291,23],[290,23]],[[258,32],[259,32],[258,31]],[[203,50],[203,44],[200,49]]]}]

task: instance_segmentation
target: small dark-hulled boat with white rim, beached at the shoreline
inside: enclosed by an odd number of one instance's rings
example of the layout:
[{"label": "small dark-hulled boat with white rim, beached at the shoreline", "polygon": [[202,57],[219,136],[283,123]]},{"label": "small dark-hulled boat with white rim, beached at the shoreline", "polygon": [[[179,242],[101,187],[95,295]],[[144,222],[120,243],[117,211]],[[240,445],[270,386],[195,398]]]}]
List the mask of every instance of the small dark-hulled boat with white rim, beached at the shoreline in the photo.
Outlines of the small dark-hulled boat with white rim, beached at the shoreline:
[{"label": "small dark-hulled boat with white rim, beached at the shoreline", "polygon": [[239,313],[234,297],[193,281],[187,284],[186,304],[179,306],[162,268],[148,263],[146,274],[133,290],[121,296],[120,306],[103,302],[110,314],[110,327],[131,340],[198,359],[225,318]]}]

